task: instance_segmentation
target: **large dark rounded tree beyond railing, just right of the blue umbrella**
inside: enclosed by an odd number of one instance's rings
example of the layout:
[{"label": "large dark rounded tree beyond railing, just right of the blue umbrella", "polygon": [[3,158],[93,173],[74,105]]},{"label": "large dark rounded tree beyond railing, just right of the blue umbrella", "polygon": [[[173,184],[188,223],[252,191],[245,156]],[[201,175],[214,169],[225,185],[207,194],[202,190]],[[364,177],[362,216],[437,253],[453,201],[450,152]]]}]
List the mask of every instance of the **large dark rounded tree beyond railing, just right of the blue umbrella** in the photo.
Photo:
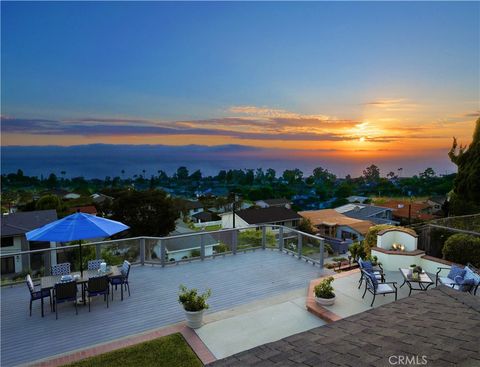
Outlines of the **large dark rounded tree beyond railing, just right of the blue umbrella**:
[{"label": "large dark rounded tree beyond railing, just right of the blue umbrella", "polygon": [[161,190],[123,191],[112,203],[112,218],[130,226],[131,236],[165,236],[175,229],[179,212]]}]

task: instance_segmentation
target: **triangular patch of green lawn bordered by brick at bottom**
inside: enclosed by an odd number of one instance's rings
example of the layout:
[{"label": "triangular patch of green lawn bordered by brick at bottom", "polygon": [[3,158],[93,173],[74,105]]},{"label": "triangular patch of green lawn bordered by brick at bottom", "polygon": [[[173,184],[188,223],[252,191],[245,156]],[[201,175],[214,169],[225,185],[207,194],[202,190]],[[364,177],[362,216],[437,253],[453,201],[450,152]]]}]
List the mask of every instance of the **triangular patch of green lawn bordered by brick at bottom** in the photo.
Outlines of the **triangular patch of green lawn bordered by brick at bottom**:
[{"label": "triangular patch of green lawn bordered by brick at bottom", "polygon": [[68,367],[94,366],[201,367],[203,364],[187,344],[182,334],[176,333],[68,365]]}]

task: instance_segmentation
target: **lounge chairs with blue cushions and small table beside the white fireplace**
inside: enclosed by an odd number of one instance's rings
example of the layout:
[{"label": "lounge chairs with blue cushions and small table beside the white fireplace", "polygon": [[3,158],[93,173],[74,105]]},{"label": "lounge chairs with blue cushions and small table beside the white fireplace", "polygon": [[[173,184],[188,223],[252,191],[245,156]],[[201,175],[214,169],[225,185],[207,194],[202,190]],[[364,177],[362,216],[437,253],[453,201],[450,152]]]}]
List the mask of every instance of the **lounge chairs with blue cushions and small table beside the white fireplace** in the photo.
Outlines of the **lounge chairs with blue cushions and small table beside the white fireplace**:
[{"label": "lounge chairs with blue cushions and small table beside the white fireplace", "polygon": [[[373,294],[370,307],[372,307],[375,302],[375,296],[379,294],[384,296],[386,294],[395,294],[395,301],[397,300],[396,282],[385,281],[385,274],[380,264],[374,266],[370,261],[358,259],[358,265],[361,271],[358,289],[360,289],[363,281],[365,281],[365,291],[363,292],[362,298],[365,297],[367,291]],[[480,285],[480,272],[471,264],[467,264],[465,267],[455,265],[452,265],[451,268],[439,267],[435,282],[433,282],[425,271],[421,271],[418,276],[414,276],[411,269],[399,268],[398,270],[403,276],[403,283],[400,288],[406,284],[409,288],[409,296],[412,294],[412,291],[424,292],[433,284],[437,286],[438,283],[476,295]],[[443,270],[450,270],[448,276],[440,276]]]}]

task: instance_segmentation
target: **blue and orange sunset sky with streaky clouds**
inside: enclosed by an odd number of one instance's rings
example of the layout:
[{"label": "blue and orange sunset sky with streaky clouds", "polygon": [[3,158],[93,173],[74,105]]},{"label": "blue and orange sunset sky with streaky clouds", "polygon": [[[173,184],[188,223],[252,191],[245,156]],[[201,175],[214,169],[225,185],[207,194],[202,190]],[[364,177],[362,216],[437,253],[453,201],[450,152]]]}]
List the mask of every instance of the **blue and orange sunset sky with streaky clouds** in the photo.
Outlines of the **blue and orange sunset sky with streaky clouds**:
[{"label": "blue and orange sunset sky with streaky clouds", "polygon": [[1,7],[2,146],[237,144],[428,166],[479,116],[479,2]]}]

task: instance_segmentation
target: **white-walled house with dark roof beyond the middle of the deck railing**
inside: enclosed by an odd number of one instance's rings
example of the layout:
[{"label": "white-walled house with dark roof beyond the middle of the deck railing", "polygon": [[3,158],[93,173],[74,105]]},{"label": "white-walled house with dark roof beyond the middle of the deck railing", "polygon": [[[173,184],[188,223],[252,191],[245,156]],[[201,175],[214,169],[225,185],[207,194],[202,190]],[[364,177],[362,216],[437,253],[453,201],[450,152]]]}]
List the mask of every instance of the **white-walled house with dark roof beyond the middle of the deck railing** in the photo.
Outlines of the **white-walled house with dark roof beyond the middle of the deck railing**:
[{"label": "white-walled house with dark roof beyond the middle of the deck railing", "polygon": [[235,214],[232,212],[224,213],[221,217],[223,228],[233,228],[233,218],[235,218],[235,228],[258,224],[274,224],[295,228],[302,219],[297,212],[281,206],[252,207],[236,211]]}]

